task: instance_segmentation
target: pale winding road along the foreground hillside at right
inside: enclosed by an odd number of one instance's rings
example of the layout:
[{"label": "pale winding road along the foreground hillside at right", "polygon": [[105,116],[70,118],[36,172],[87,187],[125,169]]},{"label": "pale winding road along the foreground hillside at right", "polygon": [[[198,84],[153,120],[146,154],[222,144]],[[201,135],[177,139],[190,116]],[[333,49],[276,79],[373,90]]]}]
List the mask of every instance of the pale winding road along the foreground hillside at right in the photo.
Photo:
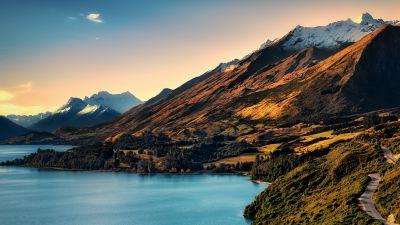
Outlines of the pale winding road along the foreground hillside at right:
[{"label": "pale winding road along the foreground hillside at right", "polygon": [[[395,164],[397,159],[393,156],[392,151],[386,147],[381,147],[383,151],[383,155],[386,160],[390,164]],[[379,173],[372,173],[368,175],[371,178],[371,181],[368,183],[365,192],[358,199],[361,205],[361,208],[372,218],[379,220],[381,223],[385,225],[395,225],[395,223],[390,223],[386,219],[382,217],[382,215],[376,210],[375,203],[372,201],[372,196],[375,191],[378,189],[378,185],[381,182],[381,176]]]}]

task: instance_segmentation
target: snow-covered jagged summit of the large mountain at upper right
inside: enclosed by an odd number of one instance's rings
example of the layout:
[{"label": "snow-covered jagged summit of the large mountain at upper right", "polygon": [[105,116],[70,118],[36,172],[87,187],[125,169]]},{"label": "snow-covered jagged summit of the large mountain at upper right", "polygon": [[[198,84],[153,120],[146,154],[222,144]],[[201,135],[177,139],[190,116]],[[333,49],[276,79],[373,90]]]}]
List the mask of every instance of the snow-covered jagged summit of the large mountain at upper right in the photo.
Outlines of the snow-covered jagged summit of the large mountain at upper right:
[{"label": "snow-covered jagged summit of the large mountain at upper right", "polygon": [[298,51],[310,47],[334,49],[346,43],[356,42],[384,24],[397,23],[399,23],[398,20],[374,19],[369,13],[364,13],[355,21],[348,19],[318,27],[297,26],[282,39],[268,40],[261,48],[279,44],[287,51]]}]

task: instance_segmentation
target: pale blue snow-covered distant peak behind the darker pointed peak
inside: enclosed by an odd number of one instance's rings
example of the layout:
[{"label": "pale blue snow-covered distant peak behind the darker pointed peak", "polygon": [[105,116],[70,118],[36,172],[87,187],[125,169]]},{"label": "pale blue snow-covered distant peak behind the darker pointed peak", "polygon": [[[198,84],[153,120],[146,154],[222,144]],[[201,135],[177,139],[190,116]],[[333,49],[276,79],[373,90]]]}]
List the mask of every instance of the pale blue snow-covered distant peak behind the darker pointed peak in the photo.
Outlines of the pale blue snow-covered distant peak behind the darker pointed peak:
[{"label": "pale blue snow-covered distant peak behind the darker pointed peak", "polygon": [[143,103],[130,92],[110,94],[106,91],[101,91],[90,97],[85,97],[83,101],[89,105],[101,105],[103,107],[113,109],[119,113],[124,113],[130,108]]}]

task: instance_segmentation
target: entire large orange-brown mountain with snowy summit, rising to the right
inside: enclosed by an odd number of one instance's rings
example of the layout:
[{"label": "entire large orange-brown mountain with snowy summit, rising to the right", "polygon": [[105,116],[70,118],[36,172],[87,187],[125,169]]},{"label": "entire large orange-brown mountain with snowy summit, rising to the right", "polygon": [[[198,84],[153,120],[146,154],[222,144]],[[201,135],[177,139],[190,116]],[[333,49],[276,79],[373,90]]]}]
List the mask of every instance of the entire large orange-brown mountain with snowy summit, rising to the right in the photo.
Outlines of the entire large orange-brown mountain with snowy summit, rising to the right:
[{"label": "entire large orange-brown mountain with snowy summit, rising to the right", "polygon": [[396,23],[366,13],[358,23],[297,26],[90,133],[107,140],[148,132],[184,140],[238,135],[238,121],[318,120],[400,106],[393,98],[399,94]]}]

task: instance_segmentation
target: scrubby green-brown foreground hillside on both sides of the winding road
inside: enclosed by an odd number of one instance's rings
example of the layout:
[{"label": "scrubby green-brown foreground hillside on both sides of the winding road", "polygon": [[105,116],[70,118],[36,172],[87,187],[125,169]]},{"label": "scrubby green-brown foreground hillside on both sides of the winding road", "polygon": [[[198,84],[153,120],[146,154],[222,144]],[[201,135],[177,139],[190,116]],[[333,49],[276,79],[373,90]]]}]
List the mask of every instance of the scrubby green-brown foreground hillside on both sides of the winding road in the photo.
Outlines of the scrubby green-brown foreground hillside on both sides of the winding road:
[{"label": "scrubby green-brown foreground hillside on both sides of the winding road", "polygon": [[[398,223],[399,164],[387,162],[381,145],[398,154],[399,135],[399,122],[391,122],[318,154],[265,158],[254,171],[267,165],[287,170],[268,179],[272,185],[246,208],[245,216],[253,219],[253,224],[381,224],[359,207],[359,198],[370,181],[368,175],[378,173],[383,175],[374,194],[378,213]],[[288,168],[290,164],[283,164],[282,158],[290,158],[291,164],[302,162]]]}]

